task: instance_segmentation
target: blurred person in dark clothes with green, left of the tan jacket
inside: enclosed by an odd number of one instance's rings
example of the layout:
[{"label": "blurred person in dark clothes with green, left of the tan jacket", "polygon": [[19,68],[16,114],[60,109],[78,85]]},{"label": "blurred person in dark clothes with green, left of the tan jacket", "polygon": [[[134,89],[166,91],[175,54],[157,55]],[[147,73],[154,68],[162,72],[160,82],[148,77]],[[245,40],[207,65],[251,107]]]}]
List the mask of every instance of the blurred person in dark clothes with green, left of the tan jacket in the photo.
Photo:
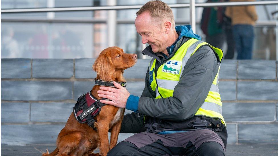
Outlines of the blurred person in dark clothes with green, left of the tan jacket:
[{"label": "blurred person in dark clothes with green, left of the tan jacket", "polygon": [[[207,3],[209,2],[220,0],[208,0]],[[222,7],[204,8],[201,19],[201,29],[206,35],[206,42],[218,48],[222,48],[225,40],[222,10]]]}]

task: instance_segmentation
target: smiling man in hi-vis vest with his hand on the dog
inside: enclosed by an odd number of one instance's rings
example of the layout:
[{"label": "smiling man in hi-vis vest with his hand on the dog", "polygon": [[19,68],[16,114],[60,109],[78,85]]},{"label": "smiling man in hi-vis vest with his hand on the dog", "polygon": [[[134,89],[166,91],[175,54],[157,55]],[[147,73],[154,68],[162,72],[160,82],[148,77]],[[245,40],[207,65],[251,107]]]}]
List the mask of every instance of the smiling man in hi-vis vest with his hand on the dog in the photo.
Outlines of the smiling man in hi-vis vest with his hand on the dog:
[{"label": "smiling man in hi-vis vest with his hand on the dog", "polygon": [[[141,97],[101,87],[101,102],[137,113],[124,116],[120,133],[138,133],[108,155],[224,155],[227,131],[222,117],[218,71],[223,53],[201,41],[191,26],[175,27],[171,8],[149,1],[135,26],[153,57]],[[213,50],[212,50],[213,49]]]}]

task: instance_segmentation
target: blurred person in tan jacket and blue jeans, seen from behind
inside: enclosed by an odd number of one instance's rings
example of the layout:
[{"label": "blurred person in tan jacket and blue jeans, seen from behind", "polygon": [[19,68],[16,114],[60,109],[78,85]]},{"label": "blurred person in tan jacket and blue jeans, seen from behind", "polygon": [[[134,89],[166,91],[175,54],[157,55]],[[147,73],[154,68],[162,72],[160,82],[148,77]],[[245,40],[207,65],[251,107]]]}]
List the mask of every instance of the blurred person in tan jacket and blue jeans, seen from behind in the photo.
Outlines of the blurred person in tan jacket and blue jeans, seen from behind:
[{"label": "blurred person in tan jacket and blue jeans, seen from behind", "polygon": [[[246,0],[230,0],[230,2],[238,1]],[[225,14],[232,19],[233,36],[238,53],[237,59],[252,59],[254,25],[258,19],[255,6],[227,7]]]}]

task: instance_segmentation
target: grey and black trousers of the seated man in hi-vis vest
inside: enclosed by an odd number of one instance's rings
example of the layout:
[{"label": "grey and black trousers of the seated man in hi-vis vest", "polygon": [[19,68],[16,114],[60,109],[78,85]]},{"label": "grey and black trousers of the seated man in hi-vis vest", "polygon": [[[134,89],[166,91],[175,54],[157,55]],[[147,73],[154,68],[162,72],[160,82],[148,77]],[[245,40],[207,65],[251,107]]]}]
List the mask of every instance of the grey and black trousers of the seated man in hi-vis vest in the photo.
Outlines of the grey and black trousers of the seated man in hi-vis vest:
[{"label": "grey and black trousers of the seated man in hi-vis vest", "polygon": [[212,130],[172,134],[138,133],[118,143],[108,155],[213,155],[223,156],[224,143]]}]

